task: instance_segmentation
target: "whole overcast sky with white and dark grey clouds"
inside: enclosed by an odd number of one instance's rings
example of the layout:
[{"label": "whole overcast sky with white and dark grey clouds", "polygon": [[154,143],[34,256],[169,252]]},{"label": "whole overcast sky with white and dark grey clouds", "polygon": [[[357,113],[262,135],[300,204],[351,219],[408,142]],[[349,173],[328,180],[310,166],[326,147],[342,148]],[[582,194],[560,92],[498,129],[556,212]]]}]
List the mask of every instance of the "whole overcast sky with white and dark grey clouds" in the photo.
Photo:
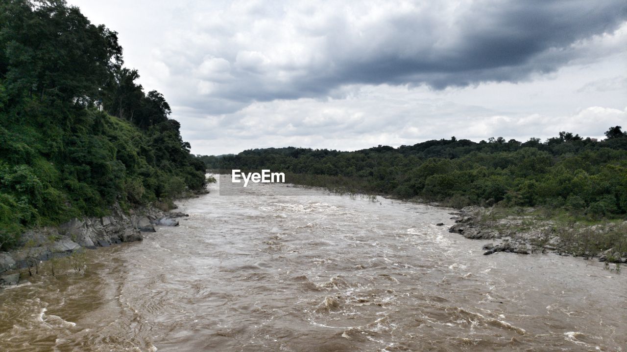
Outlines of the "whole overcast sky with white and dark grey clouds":
[{"label": "whole overcast sky with white and dark grey clouds", "polygon": [[192,153],[627,128],[627,2],[68,0]]}]

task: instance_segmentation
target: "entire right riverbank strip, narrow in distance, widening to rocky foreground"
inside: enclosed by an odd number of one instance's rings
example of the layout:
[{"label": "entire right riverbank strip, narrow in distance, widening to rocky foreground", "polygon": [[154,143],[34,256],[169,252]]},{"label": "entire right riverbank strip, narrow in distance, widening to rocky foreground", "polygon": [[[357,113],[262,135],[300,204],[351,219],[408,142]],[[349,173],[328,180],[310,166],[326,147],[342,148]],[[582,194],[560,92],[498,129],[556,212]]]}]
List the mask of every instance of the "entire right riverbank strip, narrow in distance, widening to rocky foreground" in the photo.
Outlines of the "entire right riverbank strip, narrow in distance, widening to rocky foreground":
[{"label": "entire right riverbank strip, narrow in distance, widening to rocky foreground", "polygon": [[[485,246],[485,254],[513,252],[518,254],[554,252],[561,256],[596,258],[603,262],[627,263],[627,220],[593,220],[576,217],[566,210],[543,207],[462,207],[456,202],[429,202],[424,199],[403,199],[388,194],[368,192],[364,184],[331,182],[330,177],[293,177],[288,180],[298,187],[322,187],[335,194],[364,193],[389,199],[404,200],[435,207],[452,207],[456,224],[450,232],[468,239],[493,239]],[[302,175],[301,175],[302,176]]]}]

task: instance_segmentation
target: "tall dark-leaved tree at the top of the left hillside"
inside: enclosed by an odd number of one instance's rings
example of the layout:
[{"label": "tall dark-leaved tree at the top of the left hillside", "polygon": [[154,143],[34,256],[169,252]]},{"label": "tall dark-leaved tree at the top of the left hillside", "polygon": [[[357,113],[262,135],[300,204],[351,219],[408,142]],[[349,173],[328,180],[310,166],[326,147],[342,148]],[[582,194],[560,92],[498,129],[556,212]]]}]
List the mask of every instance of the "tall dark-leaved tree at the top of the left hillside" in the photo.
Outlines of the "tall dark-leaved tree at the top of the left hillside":
[{"label": "tall dark-leaved tree at the top of the left hillside", "polygon": [[95,26],[64,0],[0,4],[0,71],[13,93],[95,100],[122,65],[117,33]]}]

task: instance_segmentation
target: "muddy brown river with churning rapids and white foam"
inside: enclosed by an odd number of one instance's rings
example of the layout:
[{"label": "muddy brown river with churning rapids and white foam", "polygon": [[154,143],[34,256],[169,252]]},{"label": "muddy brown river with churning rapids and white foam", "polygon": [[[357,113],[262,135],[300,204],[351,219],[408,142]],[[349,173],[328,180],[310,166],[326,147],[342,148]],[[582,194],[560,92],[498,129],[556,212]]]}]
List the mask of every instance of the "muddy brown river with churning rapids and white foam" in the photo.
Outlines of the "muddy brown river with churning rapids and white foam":
[{"label": "muddy brown river with churning rapids and white foam", "polygon": [[489,241],[447,232],[452,209],[282,184],[249,184],[245,196],[209,189],[179,203],[189,217],[178,227],[88,251],[84,273],[1,290],[0,350],[627,346],[627,271],[554,254],[483,256]]}]

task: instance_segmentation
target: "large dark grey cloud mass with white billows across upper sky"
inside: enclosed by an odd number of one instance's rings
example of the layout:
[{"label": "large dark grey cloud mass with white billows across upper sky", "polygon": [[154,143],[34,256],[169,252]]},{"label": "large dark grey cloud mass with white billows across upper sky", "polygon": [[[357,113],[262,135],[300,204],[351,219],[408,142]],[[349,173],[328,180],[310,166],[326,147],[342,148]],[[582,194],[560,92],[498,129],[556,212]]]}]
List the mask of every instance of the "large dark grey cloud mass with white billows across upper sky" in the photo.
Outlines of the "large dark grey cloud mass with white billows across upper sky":
[{"label": "large dark grey cloud mass with white billows across upper sky", "polygon": [[599,37],[626,19],[623,0],[238,1],[198,9],[159,60],[198,80],[187,94],[245,104],[327,96],[345,85],[441,90],[594,60],[603,54]]}]

